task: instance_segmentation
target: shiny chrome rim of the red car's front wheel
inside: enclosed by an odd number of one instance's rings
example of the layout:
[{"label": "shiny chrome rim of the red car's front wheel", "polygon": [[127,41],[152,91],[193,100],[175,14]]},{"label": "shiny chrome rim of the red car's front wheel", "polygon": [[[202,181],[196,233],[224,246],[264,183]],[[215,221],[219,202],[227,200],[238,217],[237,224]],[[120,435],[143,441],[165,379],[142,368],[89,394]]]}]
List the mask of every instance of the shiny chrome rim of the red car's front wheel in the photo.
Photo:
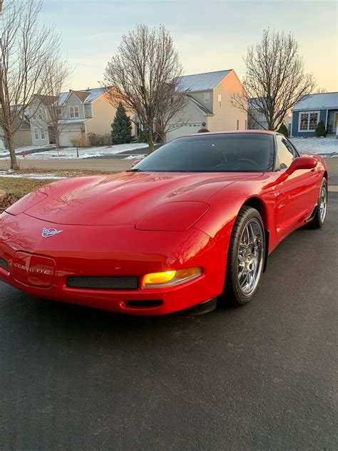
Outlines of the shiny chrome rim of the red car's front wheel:
[{"label": "shiny chrome rim of the red car's front wheel", "polygon": [[257,218],[247,222],[240,235],[238,248],[238,284],[245,296],[250,296],[257,287],[264,261],[264,232]]}]

